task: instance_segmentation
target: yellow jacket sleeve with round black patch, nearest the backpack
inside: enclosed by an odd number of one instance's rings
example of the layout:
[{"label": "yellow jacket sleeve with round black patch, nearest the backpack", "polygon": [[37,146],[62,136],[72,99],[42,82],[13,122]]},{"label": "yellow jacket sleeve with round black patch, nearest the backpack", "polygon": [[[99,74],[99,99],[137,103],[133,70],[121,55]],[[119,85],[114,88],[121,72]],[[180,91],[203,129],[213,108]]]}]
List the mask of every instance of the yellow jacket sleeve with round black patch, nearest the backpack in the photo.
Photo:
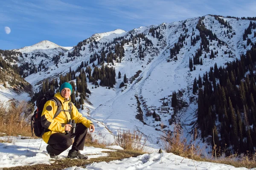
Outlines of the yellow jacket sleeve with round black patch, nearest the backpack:
[{"label": "yellow jacket sleeve with round black patch, nearest the backpack", "polygon": [[47,101],[44,105],[44,109],[41,115],[41,124],[44,128],[47,128],[54,132],[65,132],[65,127],[61,127],[61,123],[52,119],[57,111],[57,106],[55,106],[54,101]]}]

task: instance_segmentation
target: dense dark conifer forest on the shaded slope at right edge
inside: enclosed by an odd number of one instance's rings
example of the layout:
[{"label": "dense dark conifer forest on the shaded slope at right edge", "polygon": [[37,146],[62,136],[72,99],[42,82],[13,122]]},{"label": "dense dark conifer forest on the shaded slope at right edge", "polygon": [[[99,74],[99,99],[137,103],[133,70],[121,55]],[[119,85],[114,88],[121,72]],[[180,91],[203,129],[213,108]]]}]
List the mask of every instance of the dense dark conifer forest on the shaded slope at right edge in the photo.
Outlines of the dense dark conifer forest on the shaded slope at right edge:
[{"label": "dense dark conifer forest on the shaded slope at right edge", "polygon": [[252,153],[256,147],[255,66],[256,43],[226,68],[215,64],[203,79],[199,75],[194,81],[201,137],[214,136],[217,147],[229,148],[227,152]]}]

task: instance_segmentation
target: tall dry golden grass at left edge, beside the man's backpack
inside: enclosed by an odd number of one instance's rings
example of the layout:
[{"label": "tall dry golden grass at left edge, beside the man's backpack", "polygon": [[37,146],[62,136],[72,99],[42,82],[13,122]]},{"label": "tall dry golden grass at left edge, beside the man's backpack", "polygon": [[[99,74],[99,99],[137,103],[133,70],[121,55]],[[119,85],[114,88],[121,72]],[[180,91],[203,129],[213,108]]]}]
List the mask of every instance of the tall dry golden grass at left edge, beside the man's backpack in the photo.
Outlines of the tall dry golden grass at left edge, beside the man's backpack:
[{"label": "tall dry golden grass at left edge, beside the man's backpack", "polygon": [[25,101],[0,101],[0,132],[7,136],[31,136],[30,116],[34,107]]}]

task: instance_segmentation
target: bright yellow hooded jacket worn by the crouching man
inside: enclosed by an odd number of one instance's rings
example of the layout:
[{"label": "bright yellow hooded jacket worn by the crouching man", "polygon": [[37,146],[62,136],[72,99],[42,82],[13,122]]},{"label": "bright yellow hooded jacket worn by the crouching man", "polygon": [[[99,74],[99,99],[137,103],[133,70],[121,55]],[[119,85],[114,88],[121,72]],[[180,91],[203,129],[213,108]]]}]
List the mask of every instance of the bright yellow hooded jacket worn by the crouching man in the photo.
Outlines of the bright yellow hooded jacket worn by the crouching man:
[{"label": "bright yellow hooded jacket worn by the crouching man", "polygon": [[[71,119],[75,120],[76,123],[82,123],[85,127],[90,127],[93,122],[86,119],[82,116],[81,113],[77,110],[77,108],[72,103],[72,111],[71,115],[68,112],[69,111],[69,102],[70,99],[67,100],[61,96],[61,94],[58,92],[54,95],[60,102],[61,102],[61,110],[67,110],[67,111],[61,111],[55,119],[52,119],[54,114],[57,111],[57,106],[54,101],[48,100],[44,105],[44,110],[41,115],[41,124],[44,128],[49,129],[48,132],[45,132],[43,134],[43,140],[44,142],[48,143],[49,137],[53,133],[65,133],[65,128],[63,127],[64,124],[67,124],[67,122]],[[63,125],[61,125],[63,124]]]}]

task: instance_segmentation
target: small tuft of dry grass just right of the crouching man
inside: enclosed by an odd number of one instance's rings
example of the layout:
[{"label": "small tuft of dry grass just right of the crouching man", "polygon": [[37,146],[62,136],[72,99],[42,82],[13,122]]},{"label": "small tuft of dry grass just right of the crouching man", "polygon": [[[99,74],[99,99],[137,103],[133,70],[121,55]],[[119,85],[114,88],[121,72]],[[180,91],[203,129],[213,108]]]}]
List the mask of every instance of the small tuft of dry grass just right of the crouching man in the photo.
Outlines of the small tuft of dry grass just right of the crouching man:
[{"label": "small tuft of dry grass just right of the crouching man", "polygon": [[117,130],[117,136],[115,137],[115,143],[124,150],[137,150],[143,151],[143,147],[145,145],[146,139],[142,143],[143,135],[137,131],[130,132],[130,130],[125,131]]}]

